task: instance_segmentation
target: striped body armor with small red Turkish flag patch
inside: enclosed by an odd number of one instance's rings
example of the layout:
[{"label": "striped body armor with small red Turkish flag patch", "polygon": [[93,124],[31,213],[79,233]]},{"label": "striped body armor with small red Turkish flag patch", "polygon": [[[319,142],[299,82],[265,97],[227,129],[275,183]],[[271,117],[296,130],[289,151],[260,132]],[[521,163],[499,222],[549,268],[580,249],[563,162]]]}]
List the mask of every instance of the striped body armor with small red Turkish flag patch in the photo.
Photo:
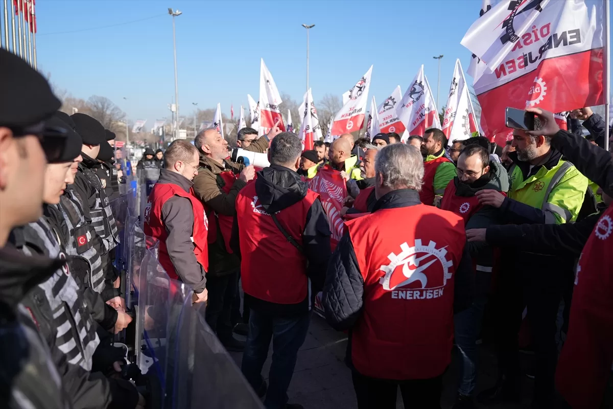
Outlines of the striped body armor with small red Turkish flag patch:
[{"label": "striped body armor with small red Turkish flag patch", "polygon": [[[91,224],[85,221],[80,198],[75,191],[69,190],[59,198],[57,206],[62,212],[69,232],[68,240],[66,240],[66,253],[86,260],[89,268],[80,277],[82,283],[96,292],[102,292],[105,287],[105,277],[102,271],[100,251],[103,249],[96,248],[96,231]],[[102,247],[102,243],[99,245]]]}]

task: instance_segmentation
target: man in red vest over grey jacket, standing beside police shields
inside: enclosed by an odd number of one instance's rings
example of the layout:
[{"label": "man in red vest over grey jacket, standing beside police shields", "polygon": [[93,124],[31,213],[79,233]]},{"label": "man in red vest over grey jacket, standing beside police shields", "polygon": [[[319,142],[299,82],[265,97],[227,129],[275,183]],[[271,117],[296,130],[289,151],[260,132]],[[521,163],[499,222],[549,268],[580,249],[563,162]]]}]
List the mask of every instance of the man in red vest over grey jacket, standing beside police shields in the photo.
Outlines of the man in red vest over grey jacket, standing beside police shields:
[{"label": "man in red vest over grey jacket, standing beside police shields", "polygon": [[181,139],[170,143],[149,195],[144,232],[158,240],[159,264],[169,277],[192,286],[193,302],[206,302],[208,221],[192,189],[197,174],[196,147]]}]

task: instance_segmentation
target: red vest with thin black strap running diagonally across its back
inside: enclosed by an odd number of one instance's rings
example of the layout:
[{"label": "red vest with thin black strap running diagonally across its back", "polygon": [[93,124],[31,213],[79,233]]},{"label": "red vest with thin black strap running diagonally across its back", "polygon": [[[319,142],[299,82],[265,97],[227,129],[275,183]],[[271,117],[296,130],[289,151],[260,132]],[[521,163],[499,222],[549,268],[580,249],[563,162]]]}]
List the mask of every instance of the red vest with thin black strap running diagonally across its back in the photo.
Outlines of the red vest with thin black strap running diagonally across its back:
[{"label": "red vest with thin black strap running diagonally across its back", "polygon": [[[307,213],[319,195],[308,190],[302,201],[276,213],[287,234],[302,245]],[[298,304],[309,294],[306,258],[276,227],[257,199],[255,180],[236,198],[240,229],[240,277],[252,297],[275,304]]]}]

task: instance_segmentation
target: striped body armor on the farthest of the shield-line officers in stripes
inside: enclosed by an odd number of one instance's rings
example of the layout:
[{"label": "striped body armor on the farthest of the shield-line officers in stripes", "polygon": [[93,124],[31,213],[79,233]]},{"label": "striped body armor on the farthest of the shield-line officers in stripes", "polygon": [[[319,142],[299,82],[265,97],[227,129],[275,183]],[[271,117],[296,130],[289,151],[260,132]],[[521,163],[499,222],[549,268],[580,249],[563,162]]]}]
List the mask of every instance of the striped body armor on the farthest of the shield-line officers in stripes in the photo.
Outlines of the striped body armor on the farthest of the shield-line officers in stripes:
[{"label": "striped body armor on the farthest of the shield-line officers in stripes", "polygon": [[96,205],[89,211],[91,214],[91,224],[94,226],[94,229],[96,229],[97,235],[102,238],[105,251],[108,253],[110,250],[113,250],[119,242],[117,225],[109,204],[109,197],[104,192],[100,179],[91,169],[82,163],[78,165],[78,169],[86,177],[89,185],[96,190]]}]

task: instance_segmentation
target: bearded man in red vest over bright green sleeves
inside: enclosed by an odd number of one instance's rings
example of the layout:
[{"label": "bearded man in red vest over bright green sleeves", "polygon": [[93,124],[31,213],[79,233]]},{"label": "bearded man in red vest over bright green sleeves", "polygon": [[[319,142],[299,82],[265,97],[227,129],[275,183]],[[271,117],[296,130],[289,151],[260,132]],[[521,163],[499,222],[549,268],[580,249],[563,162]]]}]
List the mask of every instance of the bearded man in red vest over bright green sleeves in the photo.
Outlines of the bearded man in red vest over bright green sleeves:
[{"label": "bearded man in red vest over bright green sleeves", "polygon": [[454,162],[445,156],[447,137],[440,129],[430,128],[424,132],[421,153],[424,155],[424,186],[419,192],[423,204],[436,205],[447,184],[455,176]]}]

